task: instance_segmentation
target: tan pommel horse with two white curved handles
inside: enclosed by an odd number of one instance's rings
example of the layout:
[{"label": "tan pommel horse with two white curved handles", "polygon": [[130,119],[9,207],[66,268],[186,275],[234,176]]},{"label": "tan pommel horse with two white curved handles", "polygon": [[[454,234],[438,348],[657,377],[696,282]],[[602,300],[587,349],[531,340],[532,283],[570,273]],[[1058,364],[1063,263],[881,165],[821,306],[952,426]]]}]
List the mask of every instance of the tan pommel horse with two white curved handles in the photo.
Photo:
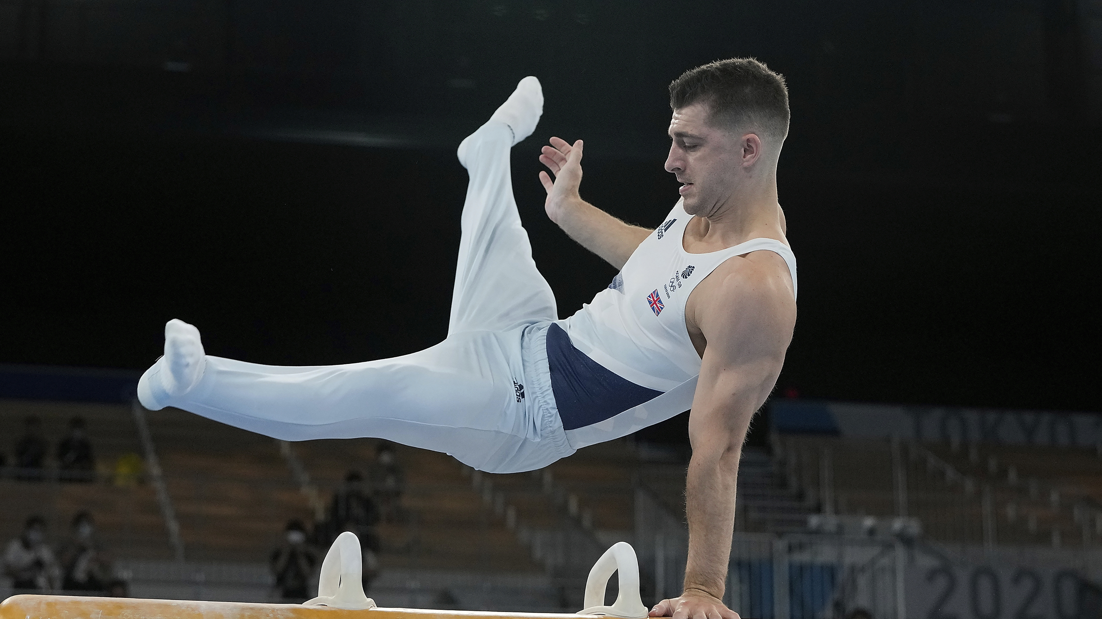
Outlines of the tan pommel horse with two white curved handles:
[{"label": "tan pommel horse with two white curved handles", "polygon": [[[363,558],[355,533],[342,533],[322,562],[317,597],[303,604],[251,604],[18,595],[0,604],[0,619],[576,619],[580,616],[642,619],[635,549],[617,542],[597,560],[585,583],[585,607],[576,613],[494,612],[379,608],[364,594]],[[608,578],[619,572],[619,594],[604,606]]]}]

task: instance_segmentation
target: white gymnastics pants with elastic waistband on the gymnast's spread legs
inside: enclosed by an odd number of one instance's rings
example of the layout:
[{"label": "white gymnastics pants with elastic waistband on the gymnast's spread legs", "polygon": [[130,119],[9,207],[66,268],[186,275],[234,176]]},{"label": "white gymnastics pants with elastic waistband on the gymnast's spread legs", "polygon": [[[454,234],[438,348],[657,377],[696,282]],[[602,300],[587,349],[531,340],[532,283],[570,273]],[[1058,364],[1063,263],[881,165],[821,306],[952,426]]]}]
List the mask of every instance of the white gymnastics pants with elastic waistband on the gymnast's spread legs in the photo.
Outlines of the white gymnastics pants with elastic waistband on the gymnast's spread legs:
[{"label": "white gymnastics pants with elastic waistband on the gymnast's spread legs", "polygon": [[281,438],[388,438],[480,470],[531,470],[572,454],[554,408],[544,338],[554,295],[512,197],[509,128],[468,142],[469,174],[447,338],[412,355],[317,367],[206,357],[176,406]]}]

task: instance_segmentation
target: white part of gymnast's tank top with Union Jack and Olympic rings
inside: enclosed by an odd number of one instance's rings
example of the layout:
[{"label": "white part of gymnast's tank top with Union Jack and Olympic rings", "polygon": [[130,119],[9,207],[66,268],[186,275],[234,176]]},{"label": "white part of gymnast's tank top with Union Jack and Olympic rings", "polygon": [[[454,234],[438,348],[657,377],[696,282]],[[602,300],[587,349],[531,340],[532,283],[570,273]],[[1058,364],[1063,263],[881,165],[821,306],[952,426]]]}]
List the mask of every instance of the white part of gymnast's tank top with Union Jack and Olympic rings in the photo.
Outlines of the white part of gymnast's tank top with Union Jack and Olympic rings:
[{"label": "white part of gymnast's tank top with Union Jack and Olympic rings", "polygon": [[788,246],[757,238],[720,251],[689,253],[683,235],[691,218],[678,200],[613,283],[576,314],[557,322],[577,350],[604,368],[663,392],[599,423],[568,430],[574,448],[626,436],[692,406],[701,358],[689,339],[685,303],[696,284],[728,258],[774,251],[788,264],[796,290],[796,257]]}]

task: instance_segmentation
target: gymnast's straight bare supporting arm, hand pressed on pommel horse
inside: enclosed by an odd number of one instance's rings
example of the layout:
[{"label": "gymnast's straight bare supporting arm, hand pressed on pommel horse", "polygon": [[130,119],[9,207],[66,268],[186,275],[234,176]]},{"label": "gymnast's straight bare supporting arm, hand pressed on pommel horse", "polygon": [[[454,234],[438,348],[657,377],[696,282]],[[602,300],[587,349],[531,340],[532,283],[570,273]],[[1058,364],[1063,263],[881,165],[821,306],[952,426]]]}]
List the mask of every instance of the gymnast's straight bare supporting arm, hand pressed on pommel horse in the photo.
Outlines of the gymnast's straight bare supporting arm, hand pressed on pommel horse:
[{"label": "gymnast's straight bare supporting arm, hand pressed on pommel horse", "polygon": [[651,617],[738,619],[722,601],[738,459],[750,417],[780,374],[796,322],[790,289],[753,269],[726,275],[707,292],[690,315],[707,345],[689,415],[692,458],[685,477],[684,590],[658,602]]}]

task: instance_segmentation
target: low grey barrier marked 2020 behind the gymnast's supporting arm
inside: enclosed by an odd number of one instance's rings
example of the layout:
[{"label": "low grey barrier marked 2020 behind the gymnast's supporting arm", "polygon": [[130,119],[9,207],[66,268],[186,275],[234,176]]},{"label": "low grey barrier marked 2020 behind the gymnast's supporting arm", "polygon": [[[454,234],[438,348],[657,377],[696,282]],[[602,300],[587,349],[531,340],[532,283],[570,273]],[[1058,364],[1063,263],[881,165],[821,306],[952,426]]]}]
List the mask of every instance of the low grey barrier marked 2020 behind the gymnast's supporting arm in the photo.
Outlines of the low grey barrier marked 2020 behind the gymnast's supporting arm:
[{"label": "low grey barrier marked 2020 behind the gymnast's supporting arm", "polygon": [[[644,599],[679,595],[688,555],[683,522],[646,487],[636,514]],[[944,544],[906,528],[900,535],[823,529],[835,532],[735,532],[723,601],[760,619],[842,619],[858,609],[876,619],[1080,619],[1094,617],[1090,609],[1102,599],[1091,584],[1102,577],[1102,555],[1093,550]]]}]

